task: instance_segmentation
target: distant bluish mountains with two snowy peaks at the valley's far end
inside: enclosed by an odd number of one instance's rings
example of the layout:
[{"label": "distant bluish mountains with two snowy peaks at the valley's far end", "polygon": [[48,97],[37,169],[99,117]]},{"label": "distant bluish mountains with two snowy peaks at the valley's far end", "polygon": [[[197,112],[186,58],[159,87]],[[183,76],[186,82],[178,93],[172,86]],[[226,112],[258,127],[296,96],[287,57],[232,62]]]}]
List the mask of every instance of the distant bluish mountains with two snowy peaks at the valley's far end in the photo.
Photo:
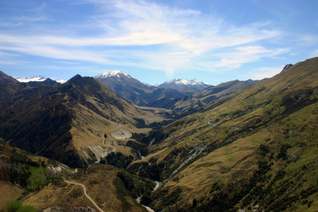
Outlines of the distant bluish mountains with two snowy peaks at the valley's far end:
[{"label": "distant bluish mountains with two snowy peaks at the valley's far end", "polygon": [[[172,110],[186,110],[189,107],[195,108],[198,105],[201,107],[203,104],[208,103],[207,100],[203,100],[203,96],[204,98],[207,98],[214,94],[214,96],[216,96],[215,99],[218,99],[221,95],[216,95],[218,92],[226,89],[227,92],[223,92],[222,95],[227,95],[256,82],[247,80],[234,85],[237,82],[240,82],[236,80],[235,83],[230,83],[230,85],[221,84],[216,89],[212,89],[214,86],[200,82],[197,79],[174,79],[160,85],[149,86],[132,78],[123,71],[104,72],[94,78],[107,85],[122,98],[131,101],[134,104]],[[200,96],[199,98],[202,99],[199,99],[197,96]],[[198,101],[201,100],[205,103],[198,103]],[[191,102],[189,103],[189,101]]]}]

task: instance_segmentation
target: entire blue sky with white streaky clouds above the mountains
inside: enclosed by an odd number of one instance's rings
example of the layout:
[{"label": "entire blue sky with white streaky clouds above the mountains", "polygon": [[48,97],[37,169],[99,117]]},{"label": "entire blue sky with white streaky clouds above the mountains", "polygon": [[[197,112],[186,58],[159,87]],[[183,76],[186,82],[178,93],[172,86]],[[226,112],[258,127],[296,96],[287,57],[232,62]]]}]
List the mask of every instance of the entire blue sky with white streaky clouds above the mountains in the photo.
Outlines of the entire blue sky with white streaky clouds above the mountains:
[{"label": "entire blue sky with white streaky clouds above the mountains", "polygon": [[0,70],[149,84],[263,79],[318,56],[318,1],[0,0]]}]

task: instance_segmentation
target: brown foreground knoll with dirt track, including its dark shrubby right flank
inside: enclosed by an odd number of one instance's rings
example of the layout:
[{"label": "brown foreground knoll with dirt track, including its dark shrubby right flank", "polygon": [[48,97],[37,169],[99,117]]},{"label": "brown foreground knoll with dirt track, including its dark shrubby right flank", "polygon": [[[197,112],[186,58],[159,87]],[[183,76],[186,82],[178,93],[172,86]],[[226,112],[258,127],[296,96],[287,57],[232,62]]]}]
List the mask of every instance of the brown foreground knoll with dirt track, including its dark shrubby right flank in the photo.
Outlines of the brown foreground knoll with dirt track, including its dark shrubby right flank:
[{"label": "brown foreground knoll with dirt track, including its dark shrubby right flank", "polygon": [[[132,187],[128,186],[126,180],[130,180],[129,186]],[[20,201],[39,209],[59,205],[66,208],[65,211],[70,211],[72,206],[84,205],[101,211],[84,195],[83,187],[78,184],[85,186],[86,194],[102,211],[145,212],[147,210],[137,203],[135,198],[145,189],[152,190],[154,187],[151,180],[130,175],[110,165],[94,164],[86,170],[79,170],[68,176],[66,180],[56,180],[38,192],[28,193]]]}]

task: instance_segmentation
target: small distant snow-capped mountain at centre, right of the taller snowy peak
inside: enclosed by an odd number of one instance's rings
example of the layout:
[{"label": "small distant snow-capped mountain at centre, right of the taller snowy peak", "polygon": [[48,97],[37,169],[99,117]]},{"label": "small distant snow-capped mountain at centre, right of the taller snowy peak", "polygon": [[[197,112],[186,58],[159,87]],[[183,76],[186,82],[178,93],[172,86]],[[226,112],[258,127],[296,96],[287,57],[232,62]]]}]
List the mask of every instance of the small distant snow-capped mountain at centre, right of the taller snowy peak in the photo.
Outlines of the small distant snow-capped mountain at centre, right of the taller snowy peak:
[{"label": "small distant snow-capped mountain at centre, right of the taller snowy peak", "polygon": [[173,80],[170,80],[169,82],[165,82],[160,85],[156,85],[156,87],[173,88],[176,90],[181,90],[181,89],[185,89],[189,87],[195,88],[197,90],[202,90],[208,86],[210,86],[210,84],[201,82],[198,79],[187,80],[187,79],[178,79],[178,78],[175,78]]}]

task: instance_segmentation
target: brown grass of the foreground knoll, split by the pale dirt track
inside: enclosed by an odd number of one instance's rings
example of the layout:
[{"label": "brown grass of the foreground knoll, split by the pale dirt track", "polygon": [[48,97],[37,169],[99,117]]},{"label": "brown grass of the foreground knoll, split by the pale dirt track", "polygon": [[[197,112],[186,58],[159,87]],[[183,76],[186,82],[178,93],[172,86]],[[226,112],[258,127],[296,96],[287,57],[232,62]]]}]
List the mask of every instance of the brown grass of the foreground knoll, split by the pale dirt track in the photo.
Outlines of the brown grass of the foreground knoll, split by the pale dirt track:
[{"label": "brown grass of the foreground knoll, split by the pale dirt track", "polygon": [[[113,166],[94,164],[89,169],[80,170],[68,177],[67,180],[84,184],[87,195],[104,211],[145,211],[129,196],[117,177],[119,171],[120,169]],[[73,188],[73,185],[59,181],[49,184],[39,192],[30,193],[22,201],[41,209],[52,205],[94,207],[84,196],[81,186]]]}]

